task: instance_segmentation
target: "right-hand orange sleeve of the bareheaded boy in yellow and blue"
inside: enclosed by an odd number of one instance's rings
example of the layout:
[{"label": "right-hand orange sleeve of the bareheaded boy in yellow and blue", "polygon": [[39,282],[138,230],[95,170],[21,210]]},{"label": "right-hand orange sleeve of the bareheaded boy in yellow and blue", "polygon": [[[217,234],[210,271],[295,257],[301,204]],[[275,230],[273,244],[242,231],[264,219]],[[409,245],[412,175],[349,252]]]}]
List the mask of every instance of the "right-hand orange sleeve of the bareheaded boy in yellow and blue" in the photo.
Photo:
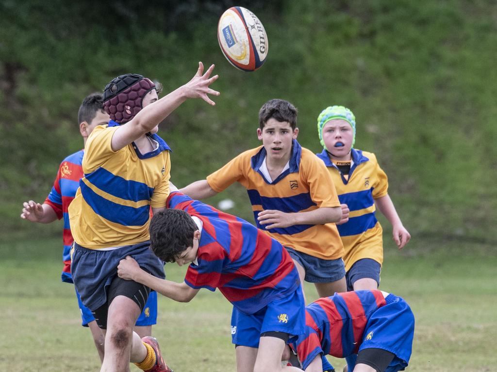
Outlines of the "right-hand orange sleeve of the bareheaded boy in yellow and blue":
[{"label": "right-hand orange sleeve of the bareheaded boy in yellow and blue", "polygon": [[318,207],[339,207],[338,194],[325,163],[317,156],[307,157],[304,177],[309,184],[311,199]]}]

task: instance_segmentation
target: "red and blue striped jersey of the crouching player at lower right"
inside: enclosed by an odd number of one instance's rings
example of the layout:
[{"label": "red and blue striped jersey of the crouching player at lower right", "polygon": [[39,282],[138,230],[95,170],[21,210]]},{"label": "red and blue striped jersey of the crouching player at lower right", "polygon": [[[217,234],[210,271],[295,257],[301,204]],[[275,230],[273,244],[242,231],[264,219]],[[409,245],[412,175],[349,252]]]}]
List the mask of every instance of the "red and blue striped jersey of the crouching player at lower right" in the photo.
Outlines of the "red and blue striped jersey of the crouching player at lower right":
[{"label": "red and blue striped jersey of the crouching player at lower right", "polygon": [[306,334],[297,341],[299,359],[304,364],[320,353],[336,358],[357,353],[369,318],[385,305],[382,291],[374,290],[335,293],[306,306]]}]

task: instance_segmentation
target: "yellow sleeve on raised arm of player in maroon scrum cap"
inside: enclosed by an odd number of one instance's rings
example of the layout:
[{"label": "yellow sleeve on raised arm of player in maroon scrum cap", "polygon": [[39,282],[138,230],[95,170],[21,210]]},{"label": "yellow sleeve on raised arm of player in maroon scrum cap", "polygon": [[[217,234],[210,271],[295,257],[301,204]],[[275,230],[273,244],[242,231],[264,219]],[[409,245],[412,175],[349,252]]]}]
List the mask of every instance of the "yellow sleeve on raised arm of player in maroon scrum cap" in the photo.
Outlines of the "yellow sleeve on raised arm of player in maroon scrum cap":
[{"label": "yellow sleeve on raised arm of player in maroon scrum cap", "polygon": [[91,173],[101,167],[113,154],[124,151],[124,147],[113,151],[112,136],[119,126],[99,125],[93,129],[84,147],[83,172]]}]

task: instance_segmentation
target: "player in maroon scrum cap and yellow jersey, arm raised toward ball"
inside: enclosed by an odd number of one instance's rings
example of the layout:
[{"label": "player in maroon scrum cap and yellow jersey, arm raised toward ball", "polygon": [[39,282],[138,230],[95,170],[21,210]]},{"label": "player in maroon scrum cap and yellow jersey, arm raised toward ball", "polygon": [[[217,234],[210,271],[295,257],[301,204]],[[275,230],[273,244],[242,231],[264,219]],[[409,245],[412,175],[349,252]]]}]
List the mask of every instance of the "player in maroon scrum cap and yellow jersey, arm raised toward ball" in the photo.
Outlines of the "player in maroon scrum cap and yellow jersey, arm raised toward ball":
[{"label": "player in maroon scrum cap and yellow jersey, arm raised toward ball", "polygon": [[[104,91],[107,125],[91,132],[83,156],[84,177],[69,206],[75,240],[72,274],[83,305],[106,329],[101,371],[127,372],[129,362],[144,371],[169,371],[153,337],[133,332],[150,288],[117,277],[117,265],[131,255],[151,274],[163,277],[164,265],[149,249],[150,208],[164,209],[169,194],[169,147],[156,133],[158,124],[188,98],[202,98],[218,76],[203,65],[185,85],[158,99],[155,84],[137,74],[113,79]],[[143,341],[143,342],[142,342]]]}]

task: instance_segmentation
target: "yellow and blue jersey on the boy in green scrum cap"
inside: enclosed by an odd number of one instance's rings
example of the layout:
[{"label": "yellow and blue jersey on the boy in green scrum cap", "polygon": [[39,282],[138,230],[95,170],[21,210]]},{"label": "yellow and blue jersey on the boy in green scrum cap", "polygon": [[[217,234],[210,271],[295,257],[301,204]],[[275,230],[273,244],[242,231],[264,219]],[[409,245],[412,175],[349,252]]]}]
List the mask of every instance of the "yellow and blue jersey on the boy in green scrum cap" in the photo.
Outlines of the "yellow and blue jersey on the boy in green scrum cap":
[{"label": "yellow and blue jersey on the boy in green scrum cap", "polygon": [[328,167],[340,203],[350,209],[347,223],[338,225],[345,248],[345,270],[362,259],[371,258],[383,263],[383,230],[375,216],[374,199],[387,195],[388,178],[371,152],[352,149],[348,179],[334,165],[326,150],[317,154]]}]

